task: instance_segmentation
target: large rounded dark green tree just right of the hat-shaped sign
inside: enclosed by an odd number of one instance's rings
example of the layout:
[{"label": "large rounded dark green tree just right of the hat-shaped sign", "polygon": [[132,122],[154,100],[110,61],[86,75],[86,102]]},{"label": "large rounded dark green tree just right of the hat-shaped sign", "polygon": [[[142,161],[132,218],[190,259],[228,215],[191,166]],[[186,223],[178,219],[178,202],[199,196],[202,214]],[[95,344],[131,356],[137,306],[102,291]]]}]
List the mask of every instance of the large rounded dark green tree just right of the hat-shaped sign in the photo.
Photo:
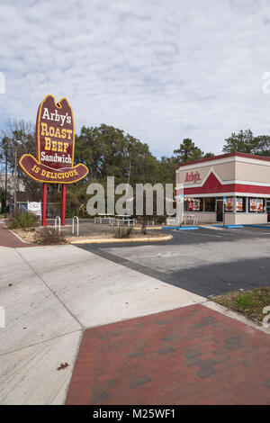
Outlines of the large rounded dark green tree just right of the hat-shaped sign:
[{"label": "large rounded dark green tree just right of the hat-shaped sign", "polygon": [[89,168],[88,178],[105,181],[115,177],[115,184],[156,183],[158,160],[147,144],[104,123],[85,127],[76,137],[76,161]]}]

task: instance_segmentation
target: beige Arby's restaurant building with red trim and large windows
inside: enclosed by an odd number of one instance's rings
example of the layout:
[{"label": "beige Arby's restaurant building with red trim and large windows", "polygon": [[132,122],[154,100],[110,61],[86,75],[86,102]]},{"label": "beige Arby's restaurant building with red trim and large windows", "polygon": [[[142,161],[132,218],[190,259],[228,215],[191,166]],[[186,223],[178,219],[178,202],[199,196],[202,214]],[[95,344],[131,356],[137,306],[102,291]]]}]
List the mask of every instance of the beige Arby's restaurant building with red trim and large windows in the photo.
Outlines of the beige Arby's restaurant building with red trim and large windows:
[{"label": "beige Arby's restaurant building with red trim and large windows", "polygon": [[[270,157],[229,153],[176,166],[184,214],[199,222],[264,224],[270,202]],[[176,190],[176,198],[183,191]]]}]

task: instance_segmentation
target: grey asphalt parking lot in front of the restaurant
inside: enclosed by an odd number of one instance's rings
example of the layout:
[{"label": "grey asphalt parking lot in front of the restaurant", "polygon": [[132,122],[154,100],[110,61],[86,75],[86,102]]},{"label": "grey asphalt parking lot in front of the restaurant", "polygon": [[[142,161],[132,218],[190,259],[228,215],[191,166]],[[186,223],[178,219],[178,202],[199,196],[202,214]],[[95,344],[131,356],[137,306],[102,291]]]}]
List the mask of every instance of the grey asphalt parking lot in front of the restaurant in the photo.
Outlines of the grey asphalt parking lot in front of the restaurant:
[{"label": "grey asphalt parking lot in front of the restaurant", "polygon": [[270,284],[270,226],[164,230],[174,239],[78,247],[204,297]]}]

